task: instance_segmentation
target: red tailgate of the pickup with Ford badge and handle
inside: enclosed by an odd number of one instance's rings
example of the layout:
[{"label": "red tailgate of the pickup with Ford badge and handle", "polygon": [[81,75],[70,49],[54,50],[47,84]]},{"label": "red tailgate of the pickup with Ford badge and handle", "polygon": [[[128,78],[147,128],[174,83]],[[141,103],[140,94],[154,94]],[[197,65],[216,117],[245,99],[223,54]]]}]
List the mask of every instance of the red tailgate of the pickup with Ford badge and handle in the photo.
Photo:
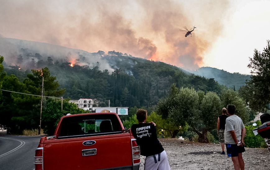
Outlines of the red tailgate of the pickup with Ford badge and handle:
[{"label": "red tailgate of the pickup with Ford badge and handle", "polygon": [[[95,141],[92,142],[95,144],[83,145],[88,140]],[[43,156],[44,170],[95,170],[133,166],[129,133],[47,140],[44,141]]]}]

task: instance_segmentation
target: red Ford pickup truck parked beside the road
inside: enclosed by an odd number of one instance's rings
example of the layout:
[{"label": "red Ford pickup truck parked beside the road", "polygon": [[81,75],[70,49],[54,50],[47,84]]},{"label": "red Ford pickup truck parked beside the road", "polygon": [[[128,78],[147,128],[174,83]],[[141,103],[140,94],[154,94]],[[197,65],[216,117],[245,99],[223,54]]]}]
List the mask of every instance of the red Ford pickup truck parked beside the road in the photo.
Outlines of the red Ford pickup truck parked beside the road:
[{"label": "red Ford pickup truck parked beside the road", "polygon": [[63,116],[54,136],[42,137],[35,170],[138,170],[140,147],[116,113]]}]

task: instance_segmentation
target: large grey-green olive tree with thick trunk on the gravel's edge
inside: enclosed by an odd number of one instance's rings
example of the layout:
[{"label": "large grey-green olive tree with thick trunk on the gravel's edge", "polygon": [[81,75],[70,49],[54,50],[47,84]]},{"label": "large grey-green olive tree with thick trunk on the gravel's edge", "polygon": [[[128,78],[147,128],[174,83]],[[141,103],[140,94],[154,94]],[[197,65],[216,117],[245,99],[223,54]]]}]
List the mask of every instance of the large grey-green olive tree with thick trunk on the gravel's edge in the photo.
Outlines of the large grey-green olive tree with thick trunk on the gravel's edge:
[{"label": "large grey-green olive tree with thick trunk on the gravel's edge", "polygon": [[[208,142],[207,131],[215,129],[218,113],[221,109],[221,100],[214,92],[196,91],[193,88],[178,89],[175,84],[170,87],[167,98],[157,104],[157,113],[171,124],[192,127],[199,136],[199,142]],[[201,127],[198,129],[198,125]],[[202,126],[203,125],[203,126]]]}]

